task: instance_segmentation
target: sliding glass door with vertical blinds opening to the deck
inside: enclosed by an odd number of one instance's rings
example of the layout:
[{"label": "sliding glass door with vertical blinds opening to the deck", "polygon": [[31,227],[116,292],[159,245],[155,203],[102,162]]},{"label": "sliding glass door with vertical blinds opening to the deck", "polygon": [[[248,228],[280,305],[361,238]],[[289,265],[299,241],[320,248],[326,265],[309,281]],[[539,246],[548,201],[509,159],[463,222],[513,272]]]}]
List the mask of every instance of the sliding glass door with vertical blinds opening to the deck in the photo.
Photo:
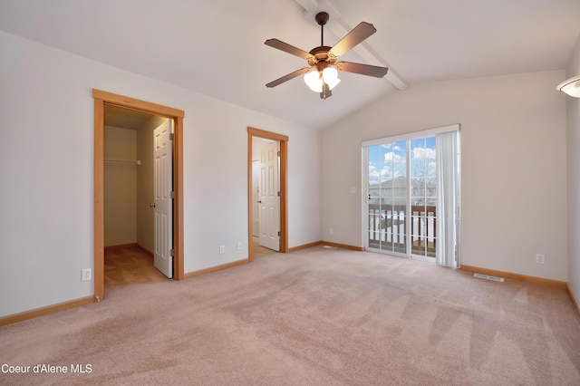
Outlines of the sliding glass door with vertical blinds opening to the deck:
[{"label": "sliding glass door with vertical blinds opening to the deck", "polygon": [[[457,146],[440,150],[438,142],[446,144],[449,129],[455,129],[451,140]],[[459,167],[440,161],[438,151],[459,165],[459,125],[363,143],[367,249],[431,261],[441,251],[457,255]],[[439,238],[448,246],[438,247]]]}]

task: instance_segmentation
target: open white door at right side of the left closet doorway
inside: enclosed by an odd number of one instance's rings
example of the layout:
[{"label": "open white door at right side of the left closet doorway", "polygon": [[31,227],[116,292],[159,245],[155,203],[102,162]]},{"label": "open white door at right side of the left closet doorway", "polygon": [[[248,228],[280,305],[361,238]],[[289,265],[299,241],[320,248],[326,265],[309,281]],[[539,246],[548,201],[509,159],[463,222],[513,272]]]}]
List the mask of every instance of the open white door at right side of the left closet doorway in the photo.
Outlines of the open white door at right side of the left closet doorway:
[{"label": "open white door at right side of the left closet doorway", "polygon": [[173,173],[171,159],[171,132],[169,120],[153,131],[153,158],[155,184],[155,254],[154,265],[163,275],[173,277]]}]

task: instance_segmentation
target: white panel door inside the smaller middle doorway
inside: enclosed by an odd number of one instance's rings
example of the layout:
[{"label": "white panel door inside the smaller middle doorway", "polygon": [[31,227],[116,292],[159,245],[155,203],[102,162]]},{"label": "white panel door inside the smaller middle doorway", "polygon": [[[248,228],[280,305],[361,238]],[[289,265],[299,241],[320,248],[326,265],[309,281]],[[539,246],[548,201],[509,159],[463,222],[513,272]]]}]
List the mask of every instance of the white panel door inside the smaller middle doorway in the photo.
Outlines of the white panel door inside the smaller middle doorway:
[{"label": "white panel door inside the smaller middle doorway", "polygon": [[280,250],[280,184],[278,142],[260,150],[260,246]]}]

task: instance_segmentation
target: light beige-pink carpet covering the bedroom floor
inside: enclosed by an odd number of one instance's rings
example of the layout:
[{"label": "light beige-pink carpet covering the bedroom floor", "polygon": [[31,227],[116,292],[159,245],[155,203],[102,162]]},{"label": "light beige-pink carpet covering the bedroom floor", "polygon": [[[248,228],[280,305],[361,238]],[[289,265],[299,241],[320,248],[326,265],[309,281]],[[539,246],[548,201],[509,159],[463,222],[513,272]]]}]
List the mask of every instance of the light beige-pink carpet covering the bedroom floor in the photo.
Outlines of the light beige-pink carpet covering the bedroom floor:
[{"label": "light beige-pink carpet covering the bedroom floor", "polygon": [[11,385],[578,385],[580,319],[563,289],[315,246],[0,327],[2,364],[31,366]]}]

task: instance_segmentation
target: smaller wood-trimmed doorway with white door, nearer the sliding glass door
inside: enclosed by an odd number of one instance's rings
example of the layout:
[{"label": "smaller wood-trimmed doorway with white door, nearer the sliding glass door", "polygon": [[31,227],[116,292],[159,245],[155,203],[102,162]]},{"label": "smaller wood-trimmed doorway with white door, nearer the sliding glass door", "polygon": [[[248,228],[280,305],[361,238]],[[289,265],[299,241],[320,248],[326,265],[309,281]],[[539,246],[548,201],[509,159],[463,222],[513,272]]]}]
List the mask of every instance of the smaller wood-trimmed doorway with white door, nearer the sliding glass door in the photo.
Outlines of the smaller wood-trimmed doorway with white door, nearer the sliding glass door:
[{"label": "smaller wood-trimmed doorway with white door, nearer the sliding glass door", "polygon": [[[286,202],[288,137],[249,127],[247,133],[248,260],[253,261],[256,256],[264,253],[255,250],[253,246],[256,244],[259,249],[264,250],[266,247],[272,253],[277,251],[285,253],[288,249]],[[259,161],[256,163],[256,160]]]}]

